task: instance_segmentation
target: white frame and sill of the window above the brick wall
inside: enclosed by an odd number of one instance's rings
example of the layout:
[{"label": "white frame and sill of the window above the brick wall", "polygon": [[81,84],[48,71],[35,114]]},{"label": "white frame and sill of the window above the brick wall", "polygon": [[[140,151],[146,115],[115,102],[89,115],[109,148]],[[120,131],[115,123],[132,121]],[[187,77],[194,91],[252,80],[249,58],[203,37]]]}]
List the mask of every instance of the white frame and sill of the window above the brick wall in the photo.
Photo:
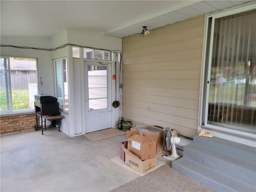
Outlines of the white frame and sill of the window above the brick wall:
[{"label": "white frame and sill of the window above the brick wall", "polygon": [[38,59],[33,57],[24,57],[24,56],[6,56],[1,55],[1,58],[6,58],[8,60],[8,89],[9,89],[9,99],[10,99],[10,109],[9,110],[0,110],[1,115],[16,115],[16,114],[29,114],[31,112],[35,112],[35,109],[22,109],[22,110],[13,110],[12,106],[12,84],[11,84],[11,70],[10,70],[10,58],[26,58],[26,59],[34,59],[36,61],[36,79],[37,79],[37,94],[39,93],[39,75],[38,75]]}]

